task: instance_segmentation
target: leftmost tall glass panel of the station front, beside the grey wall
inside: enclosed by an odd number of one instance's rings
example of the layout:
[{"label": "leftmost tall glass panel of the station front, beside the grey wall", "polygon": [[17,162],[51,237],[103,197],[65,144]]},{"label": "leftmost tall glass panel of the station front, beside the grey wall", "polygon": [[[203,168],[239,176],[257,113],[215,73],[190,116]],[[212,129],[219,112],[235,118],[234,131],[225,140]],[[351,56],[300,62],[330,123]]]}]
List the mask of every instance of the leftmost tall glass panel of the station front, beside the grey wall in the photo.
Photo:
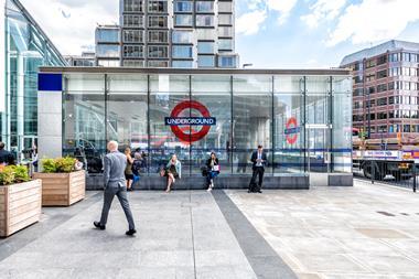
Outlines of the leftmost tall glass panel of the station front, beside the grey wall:
[{"label": "leftmost tall glass panel of the station front, beside the grey wall", "polygon": [[64,76],[63,154],[80,153],[89,173],[103,172],[106,151],[105,76]]}]

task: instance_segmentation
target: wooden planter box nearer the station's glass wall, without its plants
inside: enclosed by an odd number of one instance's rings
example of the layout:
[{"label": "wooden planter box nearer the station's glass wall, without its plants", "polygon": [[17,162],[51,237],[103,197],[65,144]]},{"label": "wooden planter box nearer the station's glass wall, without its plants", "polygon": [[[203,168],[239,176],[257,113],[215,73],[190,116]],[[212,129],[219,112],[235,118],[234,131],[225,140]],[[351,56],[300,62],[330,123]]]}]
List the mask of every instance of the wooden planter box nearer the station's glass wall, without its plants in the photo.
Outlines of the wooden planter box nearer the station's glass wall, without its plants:
[{"label": "wooden planter box nearer the station's glass wall, without its plants", "polygon": [[42,206],[69,206],[85,198],[85,171],[33,174],[42,180]]}]

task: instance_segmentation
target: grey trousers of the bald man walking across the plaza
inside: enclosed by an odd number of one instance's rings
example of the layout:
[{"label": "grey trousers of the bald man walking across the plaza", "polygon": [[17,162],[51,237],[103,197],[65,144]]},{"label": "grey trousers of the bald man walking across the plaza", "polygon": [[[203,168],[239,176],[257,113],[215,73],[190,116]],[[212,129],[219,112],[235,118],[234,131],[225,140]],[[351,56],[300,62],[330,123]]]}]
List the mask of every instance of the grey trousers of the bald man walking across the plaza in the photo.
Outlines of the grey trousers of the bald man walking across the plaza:
[{"label": "grey trousers of the bald man walking across the plaza", "polygon": [[131,210],[129,208],[129,202],[127,198],[127,186],[122,184],[108,185],[104,192],[104,207],[101,208],[100,225],[106,225],[108,222],[108,214],[110,205],[112,204],[114,196],[118,196],[119,203],[122,206],[125,216],[127,217],[129,229],[135,229],[133,217]]}]

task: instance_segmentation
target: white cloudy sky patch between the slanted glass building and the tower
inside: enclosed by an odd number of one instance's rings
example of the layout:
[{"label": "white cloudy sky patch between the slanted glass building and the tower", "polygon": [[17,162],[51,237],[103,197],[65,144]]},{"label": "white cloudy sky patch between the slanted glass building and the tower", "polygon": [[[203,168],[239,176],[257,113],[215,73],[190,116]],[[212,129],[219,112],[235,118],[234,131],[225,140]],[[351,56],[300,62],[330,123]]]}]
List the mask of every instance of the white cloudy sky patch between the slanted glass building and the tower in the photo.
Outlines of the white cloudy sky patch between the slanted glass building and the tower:
[{"label": "white cloudy sky patch between the slanted glass building and the tower", "polygon": [[62,54],[94,46],[97,23],[118,22],[117,0],[21,0]]}]

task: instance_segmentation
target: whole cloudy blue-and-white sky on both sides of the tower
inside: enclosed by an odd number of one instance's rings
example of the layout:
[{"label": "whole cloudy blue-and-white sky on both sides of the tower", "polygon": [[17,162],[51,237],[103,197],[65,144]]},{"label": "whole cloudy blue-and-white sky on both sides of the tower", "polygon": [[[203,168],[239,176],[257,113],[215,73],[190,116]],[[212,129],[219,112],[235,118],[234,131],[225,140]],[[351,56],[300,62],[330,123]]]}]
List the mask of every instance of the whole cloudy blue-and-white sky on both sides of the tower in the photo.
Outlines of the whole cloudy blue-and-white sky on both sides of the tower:
[{"label": "whole cloudy blue-and-white sky on both sides of the tower", "polygon": [[[62,54],[94,50],[119,0],[21,0]],[[419,0],[236,0],[236,52],[255,68],[337,67],[388,40],[419,42]]]}]

